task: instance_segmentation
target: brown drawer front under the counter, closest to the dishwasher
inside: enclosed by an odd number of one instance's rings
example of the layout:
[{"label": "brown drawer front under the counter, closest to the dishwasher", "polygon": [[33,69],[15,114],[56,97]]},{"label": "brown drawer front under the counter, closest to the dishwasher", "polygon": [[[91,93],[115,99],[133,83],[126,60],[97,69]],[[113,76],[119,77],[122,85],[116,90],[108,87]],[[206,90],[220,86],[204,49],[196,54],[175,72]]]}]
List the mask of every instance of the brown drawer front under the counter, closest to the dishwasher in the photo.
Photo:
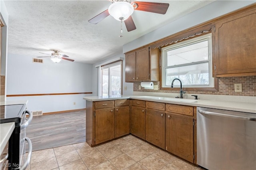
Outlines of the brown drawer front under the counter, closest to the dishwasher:
[{"label": "brown drawer front under the counter, closest to the dishwasher", "polygon": [[166,111],[188,116],[194,115],[192,106],[166,104]]}]

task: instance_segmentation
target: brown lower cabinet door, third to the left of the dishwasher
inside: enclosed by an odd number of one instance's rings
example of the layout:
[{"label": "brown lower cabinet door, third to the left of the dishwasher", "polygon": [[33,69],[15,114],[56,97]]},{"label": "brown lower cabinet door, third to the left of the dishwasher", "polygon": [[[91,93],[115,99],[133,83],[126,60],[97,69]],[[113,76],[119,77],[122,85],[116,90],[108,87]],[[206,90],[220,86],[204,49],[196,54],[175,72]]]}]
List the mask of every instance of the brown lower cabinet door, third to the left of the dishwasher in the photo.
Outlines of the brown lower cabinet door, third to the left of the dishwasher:
[{"label": "brown lower cabinet door, third to the left of the dishwasher", "polygon": [[131,111],[131,133],[145,140],[146,110],[142,107],[132,106]]}]

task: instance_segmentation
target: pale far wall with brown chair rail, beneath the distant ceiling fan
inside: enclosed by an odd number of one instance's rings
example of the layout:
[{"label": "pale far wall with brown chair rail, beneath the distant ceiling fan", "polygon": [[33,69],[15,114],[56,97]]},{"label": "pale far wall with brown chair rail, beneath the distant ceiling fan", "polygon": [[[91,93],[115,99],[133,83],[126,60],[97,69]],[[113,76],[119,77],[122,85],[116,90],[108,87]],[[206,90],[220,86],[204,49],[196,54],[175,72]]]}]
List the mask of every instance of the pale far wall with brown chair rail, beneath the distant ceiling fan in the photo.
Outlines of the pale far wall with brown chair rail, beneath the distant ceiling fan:
[{"label": "pale far wall with brown chair rail, beneath the distant ceiling fan", "polygon": [[[6,94],[92,92],[92,64],[43,60],[44,63],[33,63],[32,56],[8,53]],[[48,113],[83,109],[86,105],[82,97],[91,95],[7,97],[7,101],[28,100],[28,110]]]}]

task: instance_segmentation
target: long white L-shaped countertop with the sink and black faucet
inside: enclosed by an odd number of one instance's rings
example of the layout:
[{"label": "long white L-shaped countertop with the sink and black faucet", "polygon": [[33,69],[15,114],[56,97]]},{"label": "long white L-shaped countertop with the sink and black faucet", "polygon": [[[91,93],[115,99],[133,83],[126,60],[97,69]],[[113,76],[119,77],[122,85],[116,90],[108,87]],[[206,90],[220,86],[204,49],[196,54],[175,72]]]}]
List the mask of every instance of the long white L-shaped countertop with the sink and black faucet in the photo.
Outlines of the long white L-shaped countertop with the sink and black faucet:
[{"label": "long white L-shaped countertop with the sink and black faucet", "polygon": [[172,97],[156,97],[156,96],[92,96],[83,97],[84,100],[88,101],[103,101],[103,100],[116,100],[116,99],[139,99],[146,101],[172,103],[177,105],[188,105],[196,107],[207,107],[212,109],[223,109],[230,111],[240,111],[248,113],[256,113],[256,103],[248,102],[236,102],[236,101],[216,101],[216,100],[205,100],[205,99],[179,99]]}]

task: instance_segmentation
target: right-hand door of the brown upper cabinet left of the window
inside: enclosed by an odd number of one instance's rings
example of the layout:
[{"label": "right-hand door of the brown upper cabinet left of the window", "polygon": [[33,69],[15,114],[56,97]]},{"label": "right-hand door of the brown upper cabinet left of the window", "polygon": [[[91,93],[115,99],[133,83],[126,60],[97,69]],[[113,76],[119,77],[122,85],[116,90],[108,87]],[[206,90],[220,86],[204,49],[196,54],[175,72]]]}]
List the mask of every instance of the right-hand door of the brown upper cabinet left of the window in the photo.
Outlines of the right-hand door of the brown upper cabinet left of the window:
[{"label": "right-hand door of the brown upper cabinet left of the window", "polygon": [[136,80],[149,80],[149,51],[148,47],[136,51]]}]

